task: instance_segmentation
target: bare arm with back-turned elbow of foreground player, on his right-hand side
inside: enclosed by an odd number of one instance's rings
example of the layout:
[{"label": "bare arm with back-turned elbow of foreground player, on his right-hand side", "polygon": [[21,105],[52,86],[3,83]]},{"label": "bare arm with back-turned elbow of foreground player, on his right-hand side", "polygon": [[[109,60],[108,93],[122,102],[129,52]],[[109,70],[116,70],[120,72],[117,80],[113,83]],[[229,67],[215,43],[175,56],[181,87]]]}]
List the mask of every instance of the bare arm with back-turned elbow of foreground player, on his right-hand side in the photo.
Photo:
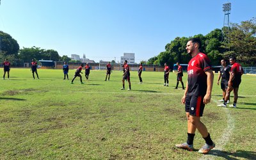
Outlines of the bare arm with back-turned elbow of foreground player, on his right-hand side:
[{"label": "bare arm with back-turned elbow of foreground player, on his right-hand side", "polygon": [[212,70],[206,70],[205,74],[207,75],[207,90],[204,96],[204,104],[211,102],[211,94],[212,94],[212,84],[214,79],[214,74]]}]

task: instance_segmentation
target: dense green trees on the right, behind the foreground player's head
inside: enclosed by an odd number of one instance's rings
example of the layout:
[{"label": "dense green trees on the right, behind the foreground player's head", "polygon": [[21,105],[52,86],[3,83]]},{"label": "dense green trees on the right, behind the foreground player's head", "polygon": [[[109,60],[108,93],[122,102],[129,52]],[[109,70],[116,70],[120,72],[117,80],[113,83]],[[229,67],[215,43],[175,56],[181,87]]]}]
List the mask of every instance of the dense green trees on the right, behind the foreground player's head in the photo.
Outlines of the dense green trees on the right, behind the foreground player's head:
[{"label": "dense green trees on the right, behind the foreground player's head", "polygon": [[[228,60],[236,56],[243,66],[256,65],[256,19],[246,20],[241,24],[232,23],[230,28],[214,29],[207,35],[195,35],[200,38],[200,51],[209,56],[212,65],[220,65],[222,58]],[[148,65],[172,65],[179,61],[188,63],[191,57],[186,51],[186,44],[193,37],[176,37],[166,44],[165,51],[147,61]]]}]

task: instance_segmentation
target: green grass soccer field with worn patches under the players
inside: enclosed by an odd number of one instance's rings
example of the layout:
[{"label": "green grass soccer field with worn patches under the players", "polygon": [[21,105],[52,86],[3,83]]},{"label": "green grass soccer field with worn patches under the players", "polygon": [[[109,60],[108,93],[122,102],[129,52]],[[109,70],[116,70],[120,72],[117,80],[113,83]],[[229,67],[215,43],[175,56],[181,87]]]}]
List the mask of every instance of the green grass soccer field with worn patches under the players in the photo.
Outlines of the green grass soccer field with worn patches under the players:
[{"label": "green grass soccer field with worn patches under the players", "polygon": [[[84,71],[84,70],[83,70]],[[82,71],[82,72],[83,72]],[[174,90],[176,75],[163,86],[163,72],[131,72],[131,91],[122,88],[122,71],[91,70],[70,84],[62,70],[12,68],[1,79],[0,159],[255,159],[256,76],[242,76],[237,108],[216,106],[222,98],[214,75],[212,100],[202,122],[216,147],[198,154],[204,145],[196,131],[193,152],[175,148],[187,137],[184,90]],[[1,72],[3,74],[3,71]],[[187,75],[184,74],[184,83]],[[231,93],[233,96],[233,93]],[[233,97],[230,97],[233,102]]]}]

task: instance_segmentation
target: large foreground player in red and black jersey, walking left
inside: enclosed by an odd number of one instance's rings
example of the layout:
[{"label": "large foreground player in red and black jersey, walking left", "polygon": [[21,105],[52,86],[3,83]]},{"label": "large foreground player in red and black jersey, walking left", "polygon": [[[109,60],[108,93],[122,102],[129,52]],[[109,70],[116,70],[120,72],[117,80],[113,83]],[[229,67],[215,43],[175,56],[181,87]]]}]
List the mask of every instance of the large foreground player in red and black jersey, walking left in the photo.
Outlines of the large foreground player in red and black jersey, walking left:
[{"label": "large foreground player in red and black jersey, walking left", "polygon": [[186,47],[192,59],[188,63],[188,82],[181,101],[185,104],[188,119],[188,139],[186,143],[176,145],[176,147],[193,150],[195,131],[198,129],[205,140],[205,145],[198,152],[207,154],[215,147],[215,144],[207,128],[201,122],[200,116],[203,115],[205,104],[211,101],[214,74],[209,58],[199,51],[200,44],[198,38],[191,38]]}]

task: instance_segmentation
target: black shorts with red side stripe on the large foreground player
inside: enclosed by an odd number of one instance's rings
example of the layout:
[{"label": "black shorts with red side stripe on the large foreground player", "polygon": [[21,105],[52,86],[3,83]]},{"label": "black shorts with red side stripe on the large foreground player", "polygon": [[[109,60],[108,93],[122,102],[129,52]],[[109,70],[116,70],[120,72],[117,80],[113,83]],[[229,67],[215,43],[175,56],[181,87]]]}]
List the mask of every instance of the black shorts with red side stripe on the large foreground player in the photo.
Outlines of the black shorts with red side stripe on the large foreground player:
[{"label": "black shorts with red side stripe on the large foreground player", "polygon": [[187,95],[185,99],[185,111],[189,115],[203,116],[204,113],[204,96]]}]

